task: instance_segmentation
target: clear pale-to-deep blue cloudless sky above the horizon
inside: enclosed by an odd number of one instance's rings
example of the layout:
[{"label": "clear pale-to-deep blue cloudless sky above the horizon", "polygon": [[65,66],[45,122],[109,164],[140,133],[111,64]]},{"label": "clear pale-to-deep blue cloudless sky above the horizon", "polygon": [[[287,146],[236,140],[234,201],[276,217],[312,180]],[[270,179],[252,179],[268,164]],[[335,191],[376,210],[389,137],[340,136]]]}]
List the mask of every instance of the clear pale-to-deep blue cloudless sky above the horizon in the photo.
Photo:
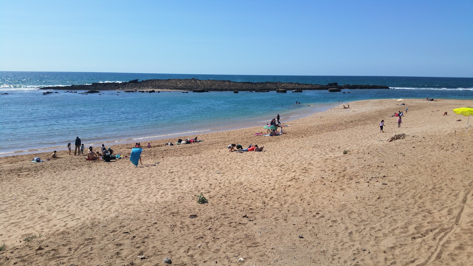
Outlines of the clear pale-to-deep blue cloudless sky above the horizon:
[{"label": "clear pale-to-deep blue cloudless sky above the horizon", "polygon": [[472,0],[0,0],[0,71],[473,77],[472,14]]}]

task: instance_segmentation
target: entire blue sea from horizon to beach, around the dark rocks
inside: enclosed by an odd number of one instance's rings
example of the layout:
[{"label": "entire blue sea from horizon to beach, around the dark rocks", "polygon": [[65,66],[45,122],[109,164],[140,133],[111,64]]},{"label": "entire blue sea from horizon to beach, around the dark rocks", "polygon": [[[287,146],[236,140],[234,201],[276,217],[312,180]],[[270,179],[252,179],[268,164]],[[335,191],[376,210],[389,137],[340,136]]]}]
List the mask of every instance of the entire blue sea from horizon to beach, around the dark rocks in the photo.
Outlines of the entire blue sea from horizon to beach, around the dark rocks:
[{"label": "entire blue sea from horizon to beach, around the dark rocks", "polygon": [[[39,87],[149,79],[280,81],[385,85],[350,93],[208,92],[66,93]],[[344,90],[348,91],[348,90]],[[80,91],[79,91],[80,92]],[[284,124],[351,101],[381,98],[473,99],[473,78],[257,76],[98,72],[0,71],[0,156],[65,150],[79,136],[86,146],[199,135],[262,126],[280,114]],[[6,94],[8,93],[8,94]],[[340,102],[338,102],[340,100]],[[296,104],[298,101],[300,104]]]}]

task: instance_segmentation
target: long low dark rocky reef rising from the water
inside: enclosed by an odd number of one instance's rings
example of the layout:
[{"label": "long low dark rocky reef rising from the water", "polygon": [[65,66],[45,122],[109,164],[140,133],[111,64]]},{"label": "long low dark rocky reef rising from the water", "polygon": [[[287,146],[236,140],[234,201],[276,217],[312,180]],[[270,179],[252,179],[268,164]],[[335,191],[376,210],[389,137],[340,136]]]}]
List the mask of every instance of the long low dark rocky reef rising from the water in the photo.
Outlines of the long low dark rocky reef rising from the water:
[{"label": "long low dark rocky reef rising from the water", "polygon": [[186,90],[186,91],[270,91],[276,89],[304,90],[320,89],[389,89],[379,85],[349,85],[339,86],[338,83],[328,85],[284,83],[284,82],[235,82],[229,80],[131,80],[128,82],[92,83],[91,85],[71,85],[66,87],[44,87],[41,89],[62,90],[123,90],[123,91],[151,91],[151,90]]}]

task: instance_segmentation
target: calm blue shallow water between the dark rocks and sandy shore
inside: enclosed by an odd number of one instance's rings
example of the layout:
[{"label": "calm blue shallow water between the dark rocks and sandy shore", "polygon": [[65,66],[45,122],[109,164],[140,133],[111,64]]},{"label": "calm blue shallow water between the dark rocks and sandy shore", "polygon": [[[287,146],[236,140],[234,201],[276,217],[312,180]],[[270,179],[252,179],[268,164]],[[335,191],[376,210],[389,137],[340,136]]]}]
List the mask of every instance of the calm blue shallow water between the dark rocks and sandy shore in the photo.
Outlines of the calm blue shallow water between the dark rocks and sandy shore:
[{"label": "calm blue shallow water between the dark rocks and sandy shore", "polygon": [[[293,80],[300,79],[296,77]],[[174,136],[193,137],[200,133],[258,125],[263,127],[277,114],[281,116],[281,123],[286,124],[304,115],[363,99],[473,99],[471,90],[418,88],[359,89],[350,90],[350,93],[317,90],[286,94],[274,91],[237,94],[103,91],[85,95],[53,90],[58,93],[43,96],[43,90],[20,87],[0,88],[0,92],[9,93],[0,96],[0,156],[65,150],[68,142],[74,144],[76,136],[86,146],[101,143],[109,146]],[[296,101],[301,104],[295,104]],[[435,106],[435,102],[432,105]]]}]

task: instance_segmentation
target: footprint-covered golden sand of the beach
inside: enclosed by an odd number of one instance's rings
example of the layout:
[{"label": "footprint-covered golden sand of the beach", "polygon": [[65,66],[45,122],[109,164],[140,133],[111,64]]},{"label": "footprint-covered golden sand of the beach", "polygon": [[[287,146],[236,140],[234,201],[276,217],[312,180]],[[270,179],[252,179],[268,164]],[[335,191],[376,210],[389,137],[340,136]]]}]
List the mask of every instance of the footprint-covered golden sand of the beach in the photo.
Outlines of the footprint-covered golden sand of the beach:
[{"label": "footprint-covered golden sand of the beach", "polygon": [[[154,141],[138,168],[66,151],[0,158],[0,265],[472,265],[473,127],[451,110],[473,101],[399,103],[352,102],[278,137]],[[390,115],[406,107],[397,128]]]}]

